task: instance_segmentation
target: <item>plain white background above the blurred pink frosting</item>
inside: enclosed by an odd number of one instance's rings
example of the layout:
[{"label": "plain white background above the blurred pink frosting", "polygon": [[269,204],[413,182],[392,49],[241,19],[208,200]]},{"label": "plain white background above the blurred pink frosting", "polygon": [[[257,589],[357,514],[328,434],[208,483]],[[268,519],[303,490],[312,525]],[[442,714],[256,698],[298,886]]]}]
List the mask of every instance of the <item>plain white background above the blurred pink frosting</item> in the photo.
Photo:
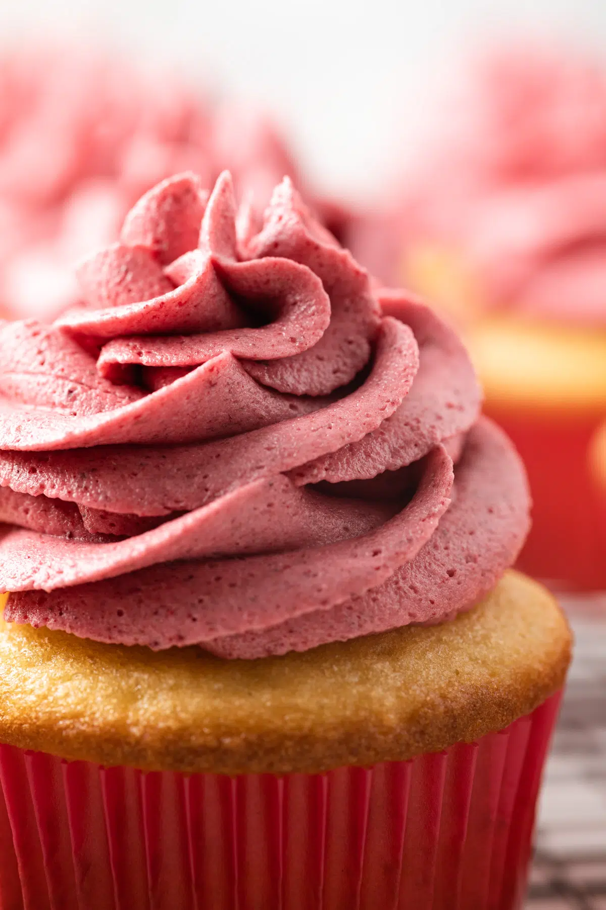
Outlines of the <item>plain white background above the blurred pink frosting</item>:
[{"label": "plain white background above the blurred pink frosting", "polygon": [[0,0],[0,40],[84,34],[261,102],[323,187],[363,197],[486,36],[555,35],[606,56],[606,0]]}]

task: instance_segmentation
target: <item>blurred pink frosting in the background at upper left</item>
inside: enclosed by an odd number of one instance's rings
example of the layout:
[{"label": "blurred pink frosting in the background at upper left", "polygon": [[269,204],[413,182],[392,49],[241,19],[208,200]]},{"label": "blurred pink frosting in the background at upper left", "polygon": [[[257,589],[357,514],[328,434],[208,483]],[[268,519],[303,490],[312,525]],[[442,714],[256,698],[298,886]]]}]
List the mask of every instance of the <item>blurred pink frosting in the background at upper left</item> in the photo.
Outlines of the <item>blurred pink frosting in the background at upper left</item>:
[{"label": "blurred pink frosting in the background at upper left", "polygon": [[0,311],[53,319],[73,302],[73,265],[117,237],[158,180],[229,167],[259,213],[294,164],[272,124],[211,105],[165,68],[74,45],[0,58]]}]

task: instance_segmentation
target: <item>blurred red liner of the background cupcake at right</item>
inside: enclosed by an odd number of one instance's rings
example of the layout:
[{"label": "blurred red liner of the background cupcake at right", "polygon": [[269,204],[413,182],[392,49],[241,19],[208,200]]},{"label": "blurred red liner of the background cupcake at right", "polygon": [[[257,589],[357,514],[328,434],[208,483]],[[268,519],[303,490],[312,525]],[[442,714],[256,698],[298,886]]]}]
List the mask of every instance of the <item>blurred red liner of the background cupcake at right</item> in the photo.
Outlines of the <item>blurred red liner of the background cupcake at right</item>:
[{"label": "blurred red liner of the background cupcake at right", "polygon": [[528,472],[532,527],[517,568],[567,591],[606,590],[606,538],[589,453],[597,417],[507,413],[485,407]]}]

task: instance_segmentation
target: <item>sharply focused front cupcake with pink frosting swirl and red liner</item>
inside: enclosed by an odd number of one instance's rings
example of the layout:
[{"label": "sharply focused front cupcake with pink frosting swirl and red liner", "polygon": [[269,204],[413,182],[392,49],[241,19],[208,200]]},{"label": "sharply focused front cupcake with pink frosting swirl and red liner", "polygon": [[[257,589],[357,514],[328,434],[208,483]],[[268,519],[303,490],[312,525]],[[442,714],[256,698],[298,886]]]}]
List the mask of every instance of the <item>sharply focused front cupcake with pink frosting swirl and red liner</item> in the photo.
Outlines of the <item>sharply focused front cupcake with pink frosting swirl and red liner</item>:
[{"label": "sharply focused front cupcake with pink frosting swirl and red liner", "polygon": [[285,179],[0,331],[0,903],[518,905],[570,657],[462,343]]}]

